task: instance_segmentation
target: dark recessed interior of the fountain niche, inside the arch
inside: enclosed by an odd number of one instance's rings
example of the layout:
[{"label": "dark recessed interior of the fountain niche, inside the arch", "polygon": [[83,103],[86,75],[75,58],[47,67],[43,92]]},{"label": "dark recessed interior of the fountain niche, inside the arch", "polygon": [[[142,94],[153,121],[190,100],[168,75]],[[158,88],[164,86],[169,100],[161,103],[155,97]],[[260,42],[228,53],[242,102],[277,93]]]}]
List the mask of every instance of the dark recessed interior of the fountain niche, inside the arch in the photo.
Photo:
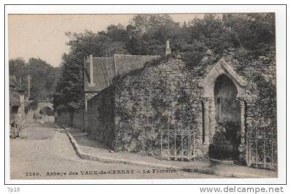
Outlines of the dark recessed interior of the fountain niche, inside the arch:
[{"label": "dark recessed interior of the fountain niche, inside the arch", "polygon": [[214,85],[215,134],[209,146],[209,157],[221,160],[238,160],[240,144],[240,109],[237,90],[224,74]]}]

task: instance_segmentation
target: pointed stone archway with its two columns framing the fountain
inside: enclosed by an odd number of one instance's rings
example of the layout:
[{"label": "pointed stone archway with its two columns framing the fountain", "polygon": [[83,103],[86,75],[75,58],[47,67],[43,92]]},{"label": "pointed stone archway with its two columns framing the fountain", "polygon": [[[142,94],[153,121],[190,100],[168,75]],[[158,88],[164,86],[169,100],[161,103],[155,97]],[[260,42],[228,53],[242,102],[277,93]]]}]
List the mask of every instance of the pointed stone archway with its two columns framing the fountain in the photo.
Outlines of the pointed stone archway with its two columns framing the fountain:
[{"label": "pointed stone archway with its two columns framing the fountain", "polygon": [[[213,105],[215,100],[214,87],[217,82],[217,78],[225,77],[226,80],[231,80],[235,91],[235,99],[239,101],[239,128],[240,128],[240,145],[239,151],[239,161],[241,163],[245,162],[246,155],[246,140],[245,140],[245,98],[246,98],[246,86],[247,82],[244,81],[223,59],[219,60],[209,71],[208,75],[203,78],[198,87],[200,88],[200,99],[203,103],[203,130],[204,138],[203,144],[209,146],[209,120],[215,120],[215,115],[210,115],[209,117],[209,103]],[[227,117],[227,116],[226,116]]]}]

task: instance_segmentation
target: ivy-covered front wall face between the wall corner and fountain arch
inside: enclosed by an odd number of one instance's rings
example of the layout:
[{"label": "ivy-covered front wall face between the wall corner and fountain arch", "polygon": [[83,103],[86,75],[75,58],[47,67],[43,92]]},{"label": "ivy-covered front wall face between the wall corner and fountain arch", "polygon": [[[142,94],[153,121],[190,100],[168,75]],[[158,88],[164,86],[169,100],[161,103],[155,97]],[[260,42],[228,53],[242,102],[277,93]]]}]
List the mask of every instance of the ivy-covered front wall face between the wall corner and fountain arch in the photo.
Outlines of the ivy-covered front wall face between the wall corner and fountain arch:
[{"label": "ivy-covered front wall face between the wall corner and fountain arch", "polygon": [[196,155],[202,157],[202,103],[195,76],[181,58],[169,58],[121,79],[115,98],[117,149],[159,155],[160,130],[169,126],[196,130]]}]

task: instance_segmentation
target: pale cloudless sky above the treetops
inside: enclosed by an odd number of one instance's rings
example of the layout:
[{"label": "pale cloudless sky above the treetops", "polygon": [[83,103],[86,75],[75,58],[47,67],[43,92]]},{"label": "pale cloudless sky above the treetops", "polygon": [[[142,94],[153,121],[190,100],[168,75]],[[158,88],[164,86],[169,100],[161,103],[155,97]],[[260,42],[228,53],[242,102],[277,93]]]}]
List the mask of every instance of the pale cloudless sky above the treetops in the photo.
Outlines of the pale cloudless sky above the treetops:
[{"label": "pale cloudless sky above the treetops", "polygon": [[[183,23],[204,14],[169,14],[176,22]],[[41,58],[54,67],[62,62],[62,54],[69,52],[69,38],[65,32],[98,32],[110,24],[129,24],[134,15],[9,15],[9,58]]]}]

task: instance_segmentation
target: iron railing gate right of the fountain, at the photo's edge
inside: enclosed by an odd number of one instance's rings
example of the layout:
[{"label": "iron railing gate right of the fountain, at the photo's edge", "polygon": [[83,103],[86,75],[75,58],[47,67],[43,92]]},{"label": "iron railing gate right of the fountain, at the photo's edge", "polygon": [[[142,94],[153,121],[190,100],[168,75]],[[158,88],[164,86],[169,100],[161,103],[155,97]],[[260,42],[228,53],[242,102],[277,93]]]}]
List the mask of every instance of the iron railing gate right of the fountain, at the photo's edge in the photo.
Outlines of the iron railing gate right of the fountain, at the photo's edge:
[{"label": "iron railing gate right of the fountain, at the photo's edge", "polygon": [[275,133],[247,133],[248,166],[277,169],[277,136]]}]

